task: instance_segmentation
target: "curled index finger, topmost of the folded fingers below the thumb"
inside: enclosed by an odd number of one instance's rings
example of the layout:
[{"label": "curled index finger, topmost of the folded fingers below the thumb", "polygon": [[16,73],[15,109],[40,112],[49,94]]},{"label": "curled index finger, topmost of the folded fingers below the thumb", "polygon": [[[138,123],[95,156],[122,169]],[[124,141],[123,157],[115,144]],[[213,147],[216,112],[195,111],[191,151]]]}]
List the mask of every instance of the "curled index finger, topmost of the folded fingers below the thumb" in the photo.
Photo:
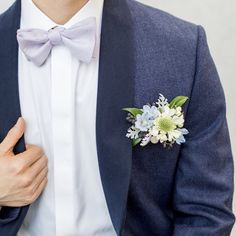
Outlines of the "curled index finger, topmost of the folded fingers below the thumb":
[{"label": "curled index finger, topmost of the folded fingers below the thumb", "polygon": [[30,145],[30,148],[26,151],[17,154],[15,161],[19,162],[19,165],[22,165],[22,171],[33,165],[40,158],[44,156],[43,150],[35,145]]}]

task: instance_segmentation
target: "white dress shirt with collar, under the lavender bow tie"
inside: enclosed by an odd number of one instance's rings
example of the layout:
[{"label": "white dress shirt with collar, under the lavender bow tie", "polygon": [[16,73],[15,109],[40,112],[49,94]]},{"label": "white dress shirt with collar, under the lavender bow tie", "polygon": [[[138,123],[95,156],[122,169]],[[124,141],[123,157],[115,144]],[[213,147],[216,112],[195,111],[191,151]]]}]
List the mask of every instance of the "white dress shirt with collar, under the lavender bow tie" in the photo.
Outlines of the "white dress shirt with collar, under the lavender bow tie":
[{"label": "white dress shirt with collar, under the lavender bow tie", "polygon": [[[18,236],[114,236],[98,166],[96,103],[103,0],[90,0],[63,25],[97,20],[95,57],[89,64],[55,46],[37,67],[19,49],[19,91],[25,141],[49,158],[48,184],[29,209]],[[57,24],[22,0],[21,28]],[[96,53],[97,52],[97,53]]]}]

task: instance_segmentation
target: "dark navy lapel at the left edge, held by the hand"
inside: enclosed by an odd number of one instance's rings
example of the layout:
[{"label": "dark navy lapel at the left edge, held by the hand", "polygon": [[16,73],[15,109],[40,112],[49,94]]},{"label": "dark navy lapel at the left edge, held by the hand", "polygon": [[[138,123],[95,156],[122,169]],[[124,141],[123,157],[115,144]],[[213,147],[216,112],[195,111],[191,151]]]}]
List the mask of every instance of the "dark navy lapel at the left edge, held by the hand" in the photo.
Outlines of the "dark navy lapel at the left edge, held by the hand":
[{"label": "dark navy lapel at the left edge, held by the hand", "polygon": [[[20,26],[20,1],[1,17],[0,23],[0,140],[21,116],[18,90],[18,43],[16,31]],[[24,150],[23,139],[16,152]]]}]

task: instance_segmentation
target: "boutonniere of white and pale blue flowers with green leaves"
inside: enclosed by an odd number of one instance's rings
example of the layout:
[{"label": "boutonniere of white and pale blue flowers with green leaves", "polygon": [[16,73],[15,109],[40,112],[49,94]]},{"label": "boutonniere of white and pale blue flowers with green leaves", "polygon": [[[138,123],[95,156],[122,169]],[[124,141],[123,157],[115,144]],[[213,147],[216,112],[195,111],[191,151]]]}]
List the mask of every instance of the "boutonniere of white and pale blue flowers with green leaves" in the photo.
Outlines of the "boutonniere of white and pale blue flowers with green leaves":
[{"label": "boutonniere of white and pale blue flowers with green leaves", "polygon": [[164,147],[172,147],[174,143],[185,142],[184,113],[182,106],[188,97],[175,97],[170,103],[160,94],[157,102],[139,108],[124,108],[128,112],[127,120],[132,125],[126,137],[132,145],[146,146],[148,143],[162,143]]}]

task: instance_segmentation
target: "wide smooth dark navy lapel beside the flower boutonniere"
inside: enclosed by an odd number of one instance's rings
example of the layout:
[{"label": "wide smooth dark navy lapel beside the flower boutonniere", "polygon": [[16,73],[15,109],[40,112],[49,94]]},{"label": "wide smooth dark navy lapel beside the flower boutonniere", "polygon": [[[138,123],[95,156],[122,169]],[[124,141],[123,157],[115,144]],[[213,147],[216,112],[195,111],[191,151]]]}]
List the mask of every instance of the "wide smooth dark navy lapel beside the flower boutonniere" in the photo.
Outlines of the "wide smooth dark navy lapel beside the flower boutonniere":
[{"label": "wide smooth dark navy lapel beside the flower boutonniere", "polygon": [[104,5],[97,100],[97,149],[103,189],[117,234],[124,222],[132,147],[124,107],[133,105],[133,43],[125,0]]}]

